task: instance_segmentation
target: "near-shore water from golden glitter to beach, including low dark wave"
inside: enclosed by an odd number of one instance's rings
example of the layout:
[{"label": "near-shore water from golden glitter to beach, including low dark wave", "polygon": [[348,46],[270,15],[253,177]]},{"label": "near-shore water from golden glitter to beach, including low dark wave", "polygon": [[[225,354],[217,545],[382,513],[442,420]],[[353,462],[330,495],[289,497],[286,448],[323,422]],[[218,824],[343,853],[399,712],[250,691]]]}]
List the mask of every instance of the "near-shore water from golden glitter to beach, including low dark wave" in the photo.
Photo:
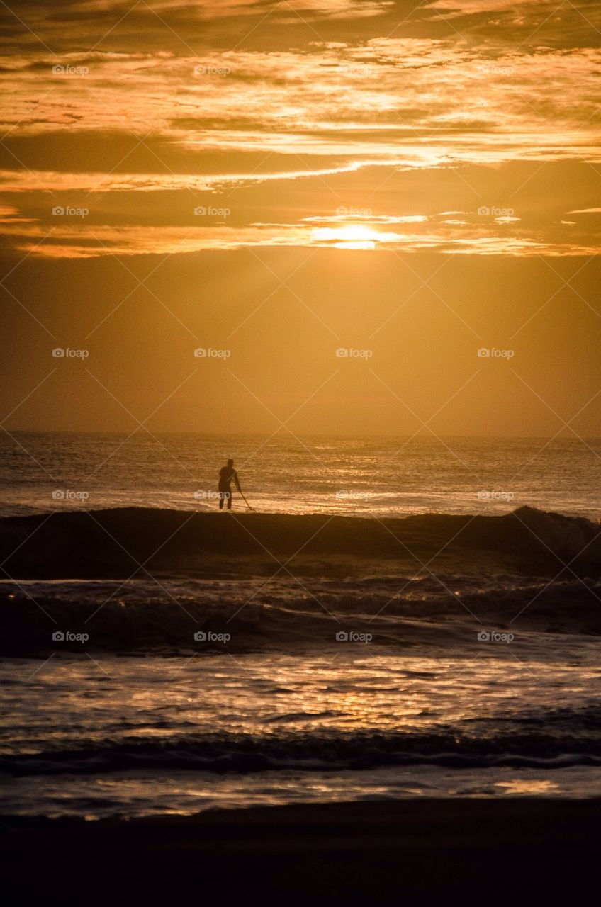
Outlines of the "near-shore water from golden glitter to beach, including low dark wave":
[{"label": "near-shore water from golden glitter to beach, including low dark wave", "polygon": [[573,639],[569,658],[563,646],[533,634],[477,658],[364,644],[5,659],[4,808],[98,817],[365,797],[599,795],[598,646]]}]

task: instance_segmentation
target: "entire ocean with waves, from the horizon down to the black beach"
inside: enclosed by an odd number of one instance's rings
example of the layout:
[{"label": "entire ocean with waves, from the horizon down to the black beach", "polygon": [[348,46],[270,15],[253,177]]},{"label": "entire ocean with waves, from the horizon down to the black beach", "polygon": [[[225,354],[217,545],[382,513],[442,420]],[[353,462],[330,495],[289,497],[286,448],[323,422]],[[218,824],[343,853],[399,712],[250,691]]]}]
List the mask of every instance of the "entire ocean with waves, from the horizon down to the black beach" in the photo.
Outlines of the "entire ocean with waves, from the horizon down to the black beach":
[{"label": "entire ocean with waves, from the horizon down to the black beach", "polygon": [[601,442],[2,447],[3,814],[601,794]]}]

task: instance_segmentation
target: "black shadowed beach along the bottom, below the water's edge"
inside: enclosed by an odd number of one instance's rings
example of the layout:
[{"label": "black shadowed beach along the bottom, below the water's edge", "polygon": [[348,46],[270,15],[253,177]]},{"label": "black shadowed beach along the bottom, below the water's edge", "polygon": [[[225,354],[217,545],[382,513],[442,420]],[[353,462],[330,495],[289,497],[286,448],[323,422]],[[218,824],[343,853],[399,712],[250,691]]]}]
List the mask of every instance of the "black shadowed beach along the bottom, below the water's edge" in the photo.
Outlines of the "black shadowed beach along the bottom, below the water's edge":
[{"label": "black shadowed beach along the bottom, below the water's edge", "polygon": [[128,822],[0,818],[7,903],[596,900],[601,802],[403,800]]}]

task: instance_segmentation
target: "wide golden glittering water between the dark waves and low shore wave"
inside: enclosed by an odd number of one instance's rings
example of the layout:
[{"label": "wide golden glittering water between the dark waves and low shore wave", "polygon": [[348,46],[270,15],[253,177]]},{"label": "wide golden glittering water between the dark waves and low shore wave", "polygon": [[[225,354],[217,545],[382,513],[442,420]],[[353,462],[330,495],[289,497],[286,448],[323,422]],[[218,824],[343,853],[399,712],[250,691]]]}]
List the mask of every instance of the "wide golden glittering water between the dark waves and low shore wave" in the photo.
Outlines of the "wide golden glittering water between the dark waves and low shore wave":
[{"label": "wide golden glittering water between the dark waves and low shore wave", "polygon": [[[559,654],[563,639],[557,646]],[[481,739],[530,727],[549,706],[555,721],[537,728],[561,734],[582,709],[596,706],[597,646],[572,640],[569,663],[551,659],[548,647],[547,661],[522,650],[517,658],[508,648],[444,658],[399,656],[380,647],[366,655],[365,646],[350,647],[349,654],[83,654],[55,656],[42,667],[32,659],[5,659],[0,754],[82,741],[168,741],[192,731],[281,739],[359,730],[445,732]]]}]

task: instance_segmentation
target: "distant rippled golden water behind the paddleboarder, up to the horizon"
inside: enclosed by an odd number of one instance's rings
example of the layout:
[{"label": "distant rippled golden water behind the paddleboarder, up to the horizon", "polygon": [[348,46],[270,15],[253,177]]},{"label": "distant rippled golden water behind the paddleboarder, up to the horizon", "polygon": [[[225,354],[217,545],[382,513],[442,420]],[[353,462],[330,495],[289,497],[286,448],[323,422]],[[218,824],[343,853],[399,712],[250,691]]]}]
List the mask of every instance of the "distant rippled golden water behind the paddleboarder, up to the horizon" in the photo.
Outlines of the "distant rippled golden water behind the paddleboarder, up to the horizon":
[{"label": "distant rippled golden water behind the paddleboarder, up to the horizon", "polygon": [[596,518],[601,501],[598,440],[16,433],[0,437],[0,515],[211,509],[230,456],[262,511],[486,513],[528,504]]}]

